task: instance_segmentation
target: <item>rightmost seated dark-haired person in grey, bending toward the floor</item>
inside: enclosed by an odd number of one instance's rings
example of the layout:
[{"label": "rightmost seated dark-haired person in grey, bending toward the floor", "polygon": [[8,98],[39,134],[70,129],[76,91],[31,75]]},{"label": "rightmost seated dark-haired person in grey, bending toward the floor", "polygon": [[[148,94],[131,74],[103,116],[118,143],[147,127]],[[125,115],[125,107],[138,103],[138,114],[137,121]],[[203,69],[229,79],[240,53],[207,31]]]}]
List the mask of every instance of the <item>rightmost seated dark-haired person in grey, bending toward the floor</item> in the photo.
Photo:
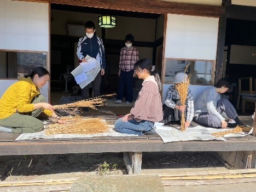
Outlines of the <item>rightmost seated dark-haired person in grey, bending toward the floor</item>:
[{"label": "rightmost seated dark-haired person in grey, bending toward the floor", "polygon": [[[194,121],[206,127],[217,128],[244,125],[230,101],[221,99],[221,94],[228,92],[231,87],[228,78],[223,77],[214,87],[206,88],[196,100]],[[226,122],[225,116],[235,123]]]}]

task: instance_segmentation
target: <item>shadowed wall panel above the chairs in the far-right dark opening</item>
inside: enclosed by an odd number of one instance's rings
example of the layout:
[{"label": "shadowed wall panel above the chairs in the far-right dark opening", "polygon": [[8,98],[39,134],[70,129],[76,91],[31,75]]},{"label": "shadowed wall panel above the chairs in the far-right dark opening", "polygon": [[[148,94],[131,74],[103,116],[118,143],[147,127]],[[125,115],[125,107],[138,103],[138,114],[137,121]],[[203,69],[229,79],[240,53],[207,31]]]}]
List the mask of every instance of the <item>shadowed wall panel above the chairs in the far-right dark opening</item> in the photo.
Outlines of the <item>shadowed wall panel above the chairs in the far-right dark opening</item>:
[{"label": "shadowed wall panel above the chairs in the far-right dark opening", "polygon": [[229,63],[256,65],[256,47],[231,45]]}]

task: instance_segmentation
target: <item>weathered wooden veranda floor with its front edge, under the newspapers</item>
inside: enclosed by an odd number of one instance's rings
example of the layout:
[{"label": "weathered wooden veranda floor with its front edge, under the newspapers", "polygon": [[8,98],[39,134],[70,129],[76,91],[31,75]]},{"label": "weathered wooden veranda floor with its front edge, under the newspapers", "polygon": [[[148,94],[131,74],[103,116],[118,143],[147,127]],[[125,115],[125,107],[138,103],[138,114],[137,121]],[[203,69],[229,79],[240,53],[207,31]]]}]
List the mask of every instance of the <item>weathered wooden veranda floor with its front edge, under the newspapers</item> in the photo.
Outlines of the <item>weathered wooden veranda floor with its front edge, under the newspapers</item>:
[{"label": "weathered wooden veranda floor with its front edge, under the newspapers", "polygon": [[[240,116],[252,126],[251,116]],[[117,116],[103,115],[107,121]],[[100,136],[70,139],[30,139],[15,141],[20,134],[0,132],[0,155],[67,154],[102,152],[160,152],[160,151],[256,151],[256,137],[231,137],[227,141],[179,141],[164,143],[159,135],[127,137]]]}]

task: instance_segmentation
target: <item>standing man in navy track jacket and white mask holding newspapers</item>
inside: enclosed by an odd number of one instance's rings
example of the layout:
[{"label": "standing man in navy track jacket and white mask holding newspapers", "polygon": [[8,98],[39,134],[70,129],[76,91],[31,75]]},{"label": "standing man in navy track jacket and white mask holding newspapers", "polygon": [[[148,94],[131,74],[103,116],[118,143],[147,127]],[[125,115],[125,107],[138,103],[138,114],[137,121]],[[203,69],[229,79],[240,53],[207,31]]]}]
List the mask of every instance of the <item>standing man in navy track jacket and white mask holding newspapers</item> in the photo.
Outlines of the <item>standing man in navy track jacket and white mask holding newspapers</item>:
[{"label": "standing man in navy track jacket and white mask holding newspapers", "polygon": [[[84,25],[85,36],[80,38],[77,45],[77,56],[82,62],[87,62],[85,57],[89,55],[95,58],[101,64],[101,70],[91,82],[94,90],[94,97],[100,96],[101,75],[104,75],[106,68],[105,50],[101,38],[98,38],[95,31],[95,25],[92,21],[87,21]],[[82,98],[88,99],[90,84],[82,89]]]}]

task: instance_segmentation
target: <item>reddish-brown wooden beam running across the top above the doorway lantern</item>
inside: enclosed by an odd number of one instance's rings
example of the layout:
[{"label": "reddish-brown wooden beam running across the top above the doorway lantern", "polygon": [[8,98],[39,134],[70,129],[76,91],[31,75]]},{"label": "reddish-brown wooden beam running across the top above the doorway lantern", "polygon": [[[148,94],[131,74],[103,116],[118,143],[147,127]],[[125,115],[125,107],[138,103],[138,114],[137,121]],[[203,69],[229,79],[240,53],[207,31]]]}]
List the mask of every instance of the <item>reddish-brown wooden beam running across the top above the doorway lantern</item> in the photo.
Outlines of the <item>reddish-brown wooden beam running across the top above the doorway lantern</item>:
[{"label": "reddish-brown wooden beam running across the top above the doorway lantern", "polygon": [[[40,0],[32,1],[39,2]],[[156,14],[171,13],[209,17],[220,17],[225,14],[225,8],[222,6],[176,3],[156,0],[48,0],[48,2],[80,7],[93,7]]]}]

